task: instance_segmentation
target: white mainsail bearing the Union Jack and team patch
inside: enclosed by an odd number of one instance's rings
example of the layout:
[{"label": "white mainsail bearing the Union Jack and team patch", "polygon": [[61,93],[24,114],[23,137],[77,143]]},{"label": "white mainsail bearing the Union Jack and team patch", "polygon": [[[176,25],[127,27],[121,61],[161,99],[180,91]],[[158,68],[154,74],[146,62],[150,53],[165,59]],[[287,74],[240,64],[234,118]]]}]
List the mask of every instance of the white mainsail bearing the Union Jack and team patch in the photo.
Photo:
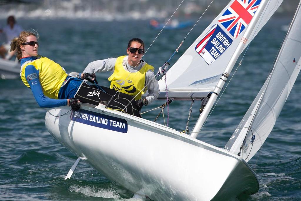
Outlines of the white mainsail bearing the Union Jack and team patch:
[{"label": "white mainsail bearing the Union Jack and team patch", "polygon": [[[247,44],[282,1],[268,2]],[[260,2],[261,0],[232,0],[225,7],[166,73],[168,97],[201,98],[214,89]],[[165,80],[159,80],[159,87],[159,99],[165,99]]]}]

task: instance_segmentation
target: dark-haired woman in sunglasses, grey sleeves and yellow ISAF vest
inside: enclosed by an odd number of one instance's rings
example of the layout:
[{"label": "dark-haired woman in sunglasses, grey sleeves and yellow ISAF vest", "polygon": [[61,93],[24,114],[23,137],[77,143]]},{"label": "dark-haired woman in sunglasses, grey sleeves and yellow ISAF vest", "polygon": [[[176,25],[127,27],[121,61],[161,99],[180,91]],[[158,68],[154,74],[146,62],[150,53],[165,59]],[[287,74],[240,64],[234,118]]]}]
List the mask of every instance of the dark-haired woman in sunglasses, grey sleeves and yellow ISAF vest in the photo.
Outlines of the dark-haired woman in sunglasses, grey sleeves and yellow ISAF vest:
[{"label": "dark-haired woman in sunglasses, grey sleeves and yellow ISAF vest", "polygon": [[[159,96],[159,84],[154,76],[154,67],[141,60],[144,54],[144,42],[133,38],[126,49],[128,55],[107,58],[89,63],[83,72],[96,73],[113,71],[108,78],[110,88],[135,96],[138,110],[153,102]],[[142,95],[148,92],[145,98]]]}]

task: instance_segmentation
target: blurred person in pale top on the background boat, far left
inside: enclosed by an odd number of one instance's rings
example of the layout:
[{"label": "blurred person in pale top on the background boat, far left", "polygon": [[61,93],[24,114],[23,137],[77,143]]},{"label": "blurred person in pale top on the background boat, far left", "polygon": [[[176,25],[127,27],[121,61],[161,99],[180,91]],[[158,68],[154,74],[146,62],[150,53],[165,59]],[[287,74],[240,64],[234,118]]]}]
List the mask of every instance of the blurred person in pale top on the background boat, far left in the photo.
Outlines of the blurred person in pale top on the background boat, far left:
[{"label": "blurred person in pale top on the background boat, far left", "polygon": [[10,59],[15,54],[15,51],[8,52],[8,50],[10,49],[11,40],[18,37],[22,30],[22,27],[16,24],[14,16],[7,18],[7,25],[0,29],[0,33],[5,35],[5,43],[0,46],[0,56],[2,58]]}]

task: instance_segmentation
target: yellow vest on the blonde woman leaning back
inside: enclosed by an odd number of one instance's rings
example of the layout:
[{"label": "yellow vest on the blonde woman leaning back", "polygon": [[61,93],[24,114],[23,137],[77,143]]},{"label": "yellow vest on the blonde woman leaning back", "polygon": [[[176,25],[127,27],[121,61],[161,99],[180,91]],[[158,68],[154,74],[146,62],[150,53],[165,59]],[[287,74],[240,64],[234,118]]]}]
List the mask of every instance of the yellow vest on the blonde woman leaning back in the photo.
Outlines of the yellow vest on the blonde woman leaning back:
[{"label": "yellow vest on the blonde woman leaning back", "polygon": [[21,79],[27,87],[30,87],[25,77],[25,68],[28,65],[33,65],[39,71],[39,80],[44,95],[52,99],[58,99],[61,85],[68,76],[65,69],[60,64],[38,55],[36,60],[25,62],[21,66]]}]

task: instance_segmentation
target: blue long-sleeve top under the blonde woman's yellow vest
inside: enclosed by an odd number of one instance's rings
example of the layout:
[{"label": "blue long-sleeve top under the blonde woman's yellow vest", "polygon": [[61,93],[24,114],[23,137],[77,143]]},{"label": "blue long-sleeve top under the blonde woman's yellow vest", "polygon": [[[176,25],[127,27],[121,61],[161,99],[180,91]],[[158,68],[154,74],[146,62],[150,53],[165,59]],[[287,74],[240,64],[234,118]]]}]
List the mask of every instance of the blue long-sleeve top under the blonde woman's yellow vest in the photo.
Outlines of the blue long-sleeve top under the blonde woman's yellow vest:
[{"label": "blue long-sleeve top under the blonde woman's yellow vest", "polygon": [[[29,60],[35,60],[36,57],[23,57],[20,59],[21,65],[24,62]],[[34,79],[29,80],[28,75],[36,74]],[[39,80],[39,71],[33,65],[27,65],[25,68],[25,77],[27,82],[29,83],[30,89],[33,92],[33,96],[36,99],[36,102],[41,108],[53,108],[58,106],[67,105],[67,99],[51,99],[44,95],[42,86]],[[33,78],[33,77],[31,77]]]}]

